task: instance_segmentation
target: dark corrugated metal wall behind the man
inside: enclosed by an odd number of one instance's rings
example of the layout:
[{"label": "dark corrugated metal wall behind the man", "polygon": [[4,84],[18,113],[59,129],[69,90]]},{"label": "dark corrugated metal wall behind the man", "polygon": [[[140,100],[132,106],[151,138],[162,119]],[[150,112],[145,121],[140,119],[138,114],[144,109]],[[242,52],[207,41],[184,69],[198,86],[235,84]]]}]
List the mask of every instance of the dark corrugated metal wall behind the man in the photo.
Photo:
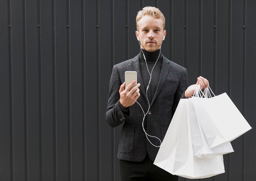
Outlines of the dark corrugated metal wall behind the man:
[{"label": "dark corrugated metal wall behind the man", "polygon": [[[166,17],[163,54],[227,92],[253,127],[225,174],[256,181],[255,0],[1,0],[0,181],[120,181],[105,121],[112,66],[139,53],[135,16]],[[185,181],[186,179],[180,179]]]}]

